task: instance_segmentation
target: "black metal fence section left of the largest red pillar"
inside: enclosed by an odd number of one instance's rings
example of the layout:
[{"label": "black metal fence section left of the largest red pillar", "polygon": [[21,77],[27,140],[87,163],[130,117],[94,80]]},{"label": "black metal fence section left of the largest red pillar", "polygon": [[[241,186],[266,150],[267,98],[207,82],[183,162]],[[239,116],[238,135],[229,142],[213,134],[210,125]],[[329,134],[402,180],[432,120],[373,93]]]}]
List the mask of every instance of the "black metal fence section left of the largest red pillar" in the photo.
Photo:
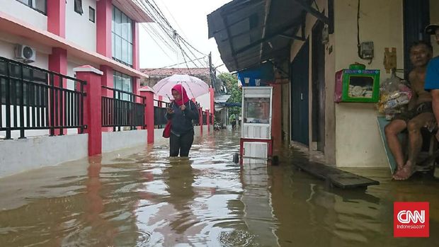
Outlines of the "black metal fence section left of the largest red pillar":
[{"label": "black metal fence section left of the largest red pillar", "polygon": [[73,77],[0,57],[0,131],[84,132],[84,85]]}]

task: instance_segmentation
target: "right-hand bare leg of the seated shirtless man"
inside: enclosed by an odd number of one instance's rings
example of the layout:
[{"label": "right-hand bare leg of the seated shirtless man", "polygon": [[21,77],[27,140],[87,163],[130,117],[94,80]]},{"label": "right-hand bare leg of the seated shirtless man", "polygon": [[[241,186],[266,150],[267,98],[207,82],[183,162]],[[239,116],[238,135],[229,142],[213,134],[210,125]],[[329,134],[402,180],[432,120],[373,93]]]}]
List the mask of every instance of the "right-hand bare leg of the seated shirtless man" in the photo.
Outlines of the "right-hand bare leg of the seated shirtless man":
[{"label": "right-hand bare leg of the seated shirtless man", "polygon": [[401,170],[401,172],[395,174],[395,179],[406,180],[414,173],[416,159],[418,158],[419,151],[421,151],[422,148],[421,128],[432,119],[433,113],[421,113],[410,120],[407,124],[407,130],[409,130],[409,159],[407,160],[407,163],[404,165],[404,168]]}]

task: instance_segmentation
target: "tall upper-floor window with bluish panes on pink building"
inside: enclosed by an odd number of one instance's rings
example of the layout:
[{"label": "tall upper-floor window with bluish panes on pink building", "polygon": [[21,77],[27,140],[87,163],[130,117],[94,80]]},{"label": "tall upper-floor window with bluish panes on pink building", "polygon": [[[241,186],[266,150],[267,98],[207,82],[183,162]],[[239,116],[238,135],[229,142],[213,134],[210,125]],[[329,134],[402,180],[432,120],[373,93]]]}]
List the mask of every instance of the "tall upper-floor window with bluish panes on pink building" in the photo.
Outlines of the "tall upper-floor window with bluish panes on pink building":
[{"label": "tall upper-floor window with bluish panes on pink building", "polygon": [[113,59],[132,67],[132,20],[113,6],[111,39]]}]

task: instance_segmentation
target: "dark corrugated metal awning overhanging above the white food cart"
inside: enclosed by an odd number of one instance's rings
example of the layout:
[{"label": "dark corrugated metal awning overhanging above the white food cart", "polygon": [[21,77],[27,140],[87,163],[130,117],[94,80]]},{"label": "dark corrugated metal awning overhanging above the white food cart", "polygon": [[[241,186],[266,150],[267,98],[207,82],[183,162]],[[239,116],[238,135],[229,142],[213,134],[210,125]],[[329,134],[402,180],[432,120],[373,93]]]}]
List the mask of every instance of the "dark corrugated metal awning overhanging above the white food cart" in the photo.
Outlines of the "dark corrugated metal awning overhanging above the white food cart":
[{"label": "dark corrugated metal awning overhanging above the white food cart", "polygon": [[[290,57],[292,40],[304,40],[307,13],[328,23],[312,0],[234,0],[207,15],[209,38],[215,37],[229,71],[282,62]],[[274,61],[273,61],[274,60]]]}]

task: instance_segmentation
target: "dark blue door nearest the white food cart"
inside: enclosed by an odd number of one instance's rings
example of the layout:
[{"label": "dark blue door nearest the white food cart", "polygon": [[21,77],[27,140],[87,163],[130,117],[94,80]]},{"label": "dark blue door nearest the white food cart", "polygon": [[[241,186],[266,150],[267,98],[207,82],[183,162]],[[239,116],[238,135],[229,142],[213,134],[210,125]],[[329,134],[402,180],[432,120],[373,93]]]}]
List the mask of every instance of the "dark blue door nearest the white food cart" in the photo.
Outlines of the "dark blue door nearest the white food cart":
[{"label": "dark blue door nearest the white food cart", "polygon": [[291,139],[309,145],[309,40],[302,46],[290,66]]}]

